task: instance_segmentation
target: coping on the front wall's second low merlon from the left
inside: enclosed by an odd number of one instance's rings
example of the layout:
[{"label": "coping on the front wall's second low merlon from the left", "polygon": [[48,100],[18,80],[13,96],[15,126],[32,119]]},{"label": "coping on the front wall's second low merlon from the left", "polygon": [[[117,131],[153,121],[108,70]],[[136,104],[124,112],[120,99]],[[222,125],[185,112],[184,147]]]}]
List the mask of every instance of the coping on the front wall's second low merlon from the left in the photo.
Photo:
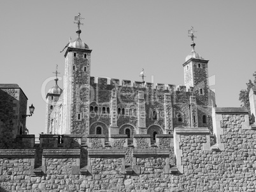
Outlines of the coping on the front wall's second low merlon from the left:
[{"label": "coping on the front wall's second low merlon from the left", "polygon": [[80,156],[81,149],[43,149],[44,157],[57,156]]}]

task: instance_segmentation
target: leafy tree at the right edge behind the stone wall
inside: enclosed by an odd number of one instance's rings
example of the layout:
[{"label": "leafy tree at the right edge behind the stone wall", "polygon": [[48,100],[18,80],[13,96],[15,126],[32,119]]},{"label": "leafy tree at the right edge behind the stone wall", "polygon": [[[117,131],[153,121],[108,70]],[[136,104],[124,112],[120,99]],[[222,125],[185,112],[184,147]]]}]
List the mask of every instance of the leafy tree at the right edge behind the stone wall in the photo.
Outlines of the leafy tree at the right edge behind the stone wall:
[{"label": "leafy tree at the right edge behind the stone wall", "polygon": [[250,89],[256,85],[256,71],[252,75],[254,77],[253,81],[249,79],[249,82],[246,83],[246,90],[241,90],[239,93],[239,100],[241,100],[242,103],[241,107],[246,107],[248,109],[248,112],[250,112],[249,92]]}]

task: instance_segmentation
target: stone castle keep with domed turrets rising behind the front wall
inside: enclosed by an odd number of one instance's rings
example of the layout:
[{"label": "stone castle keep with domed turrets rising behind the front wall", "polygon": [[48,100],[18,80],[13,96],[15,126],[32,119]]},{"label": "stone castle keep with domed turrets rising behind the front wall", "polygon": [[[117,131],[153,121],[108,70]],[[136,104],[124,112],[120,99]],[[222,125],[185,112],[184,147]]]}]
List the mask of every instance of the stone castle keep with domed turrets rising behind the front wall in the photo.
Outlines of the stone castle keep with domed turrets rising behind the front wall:
[{"label": "stone castle keep with domed turrets rising behind the front wall", "polygon": [[[192,30],[190,30],[192,31]],[[209,88],[208,60],[194,50],[186,57],[184,86],[90,76],[92,50],[80,39],[69,41],[65,57],[64,90],[56,84],[46,95],[47,134],[173,135],[174,127],[209,127],[215,95]],[[192,40],[194,34],[192,31]],[[143,71],[142,71],[143,73]],[[57,74],[57,71],[56,71]],[[109,80],[109,82],[108,82]]]}]

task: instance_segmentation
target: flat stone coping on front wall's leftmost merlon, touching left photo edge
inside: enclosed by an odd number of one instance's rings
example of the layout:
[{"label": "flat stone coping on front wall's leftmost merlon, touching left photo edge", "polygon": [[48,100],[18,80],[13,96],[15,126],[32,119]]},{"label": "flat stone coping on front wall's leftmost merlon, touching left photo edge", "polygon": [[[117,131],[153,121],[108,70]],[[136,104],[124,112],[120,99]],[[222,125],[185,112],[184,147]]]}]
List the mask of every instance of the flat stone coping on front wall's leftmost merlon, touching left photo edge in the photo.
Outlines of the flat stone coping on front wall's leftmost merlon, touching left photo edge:
[{"label": "flat stone coping on front wall's leftmost merlon, touching left photo edge", "polygon": [[36,149],[0,149],[0,158],[8,158],[8,157],[34,158],[35,153],[36,153]]}]

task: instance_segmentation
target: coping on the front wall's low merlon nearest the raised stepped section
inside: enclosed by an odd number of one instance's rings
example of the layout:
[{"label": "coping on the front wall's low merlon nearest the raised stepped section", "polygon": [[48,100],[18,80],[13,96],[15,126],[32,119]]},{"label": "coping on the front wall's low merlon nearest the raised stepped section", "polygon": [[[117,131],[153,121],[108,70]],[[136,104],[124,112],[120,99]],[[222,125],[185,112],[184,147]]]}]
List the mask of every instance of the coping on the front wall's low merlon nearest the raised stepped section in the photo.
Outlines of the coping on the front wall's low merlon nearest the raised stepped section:
[{"label": "coping on the front wall's low merlon nearest the raised stepped section", "polygon": [[169,149],[132,149],[132,156],[134,157],[155,157],[166,156],[169,157]]}]

